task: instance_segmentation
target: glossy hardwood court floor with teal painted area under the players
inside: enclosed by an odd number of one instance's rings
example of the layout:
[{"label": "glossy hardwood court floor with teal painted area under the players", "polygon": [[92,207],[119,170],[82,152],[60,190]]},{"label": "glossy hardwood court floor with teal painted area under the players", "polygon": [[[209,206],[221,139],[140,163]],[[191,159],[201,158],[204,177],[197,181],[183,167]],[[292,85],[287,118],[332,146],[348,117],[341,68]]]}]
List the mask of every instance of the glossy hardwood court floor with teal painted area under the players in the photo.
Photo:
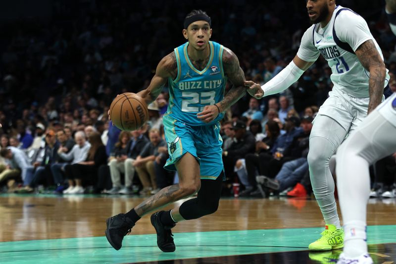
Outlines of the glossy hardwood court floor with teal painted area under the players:
[{"label": "glossy hardwood court floor with teal painted area under the players", "polygon": [[[147,215],[115,251],[104,237],[105,219],[141,201],[0,195],[0,263],[329,263],[341,253],[307,251],[324,226],[316,201],[277,198],[222,199],[215,214],[172,229],[174,253],[157,248]],[[395,204],[370,200],[368,243],[375,263],[396,260]]]}]

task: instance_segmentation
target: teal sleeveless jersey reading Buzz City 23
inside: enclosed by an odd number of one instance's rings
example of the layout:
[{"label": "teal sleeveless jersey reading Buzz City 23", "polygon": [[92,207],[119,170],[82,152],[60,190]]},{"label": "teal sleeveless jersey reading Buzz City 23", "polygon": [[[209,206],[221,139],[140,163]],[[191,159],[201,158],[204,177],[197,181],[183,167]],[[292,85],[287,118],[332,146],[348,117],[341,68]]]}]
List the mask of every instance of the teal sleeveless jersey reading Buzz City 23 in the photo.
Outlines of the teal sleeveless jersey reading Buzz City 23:
[{"label": "teal sleeveless jersey reading Buzz City 23", "polygon": [[224,47],[209,41],[210,55],[206,67],[199,71],[190,61],[185,43],[175,49],[177,76],[169,78],[169,104],[167,114],[190,126],[213,125],[223,118],[220,113],[213,121],[205,123],[197,113],[205,106],[214,105],[224,97],[227,78],[224,75],[222,55]]}]

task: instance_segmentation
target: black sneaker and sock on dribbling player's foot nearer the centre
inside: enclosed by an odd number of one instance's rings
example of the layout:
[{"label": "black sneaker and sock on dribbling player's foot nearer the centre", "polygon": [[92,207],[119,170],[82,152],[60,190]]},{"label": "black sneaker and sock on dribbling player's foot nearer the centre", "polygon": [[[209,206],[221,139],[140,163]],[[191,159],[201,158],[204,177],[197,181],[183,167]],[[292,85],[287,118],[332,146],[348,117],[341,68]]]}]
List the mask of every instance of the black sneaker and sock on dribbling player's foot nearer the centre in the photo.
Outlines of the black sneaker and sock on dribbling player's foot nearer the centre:
[{"label": "black sneaker and sock on dribbling player's foot nearer the centre", "polygon": [[175,243],[173,243],[173,235],[170,230],[176,224],[164,226],[159,218],[164,211],[159,211],[151,215],[151,224],[157,232],[157,245],[163,252],[174,252],[176,250]]}]

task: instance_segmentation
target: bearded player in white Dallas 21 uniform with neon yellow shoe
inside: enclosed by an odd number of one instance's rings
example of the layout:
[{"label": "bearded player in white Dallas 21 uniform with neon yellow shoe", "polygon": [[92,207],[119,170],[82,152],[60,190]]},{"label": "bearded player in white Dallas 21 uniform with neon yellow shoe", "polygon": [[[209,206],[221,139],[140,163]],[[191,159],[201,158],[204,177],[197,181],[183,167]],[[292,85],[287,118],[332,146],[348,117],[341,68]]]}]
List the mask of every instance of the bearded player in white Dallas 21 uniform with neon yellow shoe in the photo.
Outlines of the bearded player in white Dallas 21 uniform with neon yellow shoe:
[{"label": "bearded player in white Dallas 21 uniform with neon yellow shoe", "polygon": [[307,0],[306,7],[313,25],[302,36],[293,61],[262,87],[251,81],[246,85],[255,98],[280,93],[296,82],[320,54],[332,69],[334,88],[313,121],[308,154],[313,192],[326,222],[322,237],[308,248],[327,251],[344,247],[329,160],[346,136],[381,103],[389,75],[381,50],[362,17],[336,6],[335,0]]}]

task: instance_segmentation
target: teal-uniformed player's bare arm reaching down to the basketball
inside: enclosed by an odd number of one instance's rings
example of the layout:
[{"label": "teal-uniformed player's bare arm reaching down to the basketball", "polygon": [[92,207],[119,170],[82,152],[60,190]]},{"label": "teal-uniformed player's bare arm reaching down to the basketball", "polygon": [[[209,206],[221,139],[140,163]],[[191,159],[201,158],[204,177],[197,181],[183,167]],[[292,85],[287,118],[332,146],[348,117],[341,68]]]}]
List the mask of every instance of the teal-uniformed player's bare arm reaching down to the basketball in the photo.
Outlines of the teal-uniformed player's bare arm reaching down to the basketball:
[{"label": "teal-uniformed player's bare arm reaching down to the basketball", "polygon": [[175,53],[172,52],[161,59],[155,70],[147,89],[140,91],[138,95],[143,97],[147,104],[153,102],[161,93],[162,87],[166,84],[169,77],[173,79],[177,75],[177,62]]}]

